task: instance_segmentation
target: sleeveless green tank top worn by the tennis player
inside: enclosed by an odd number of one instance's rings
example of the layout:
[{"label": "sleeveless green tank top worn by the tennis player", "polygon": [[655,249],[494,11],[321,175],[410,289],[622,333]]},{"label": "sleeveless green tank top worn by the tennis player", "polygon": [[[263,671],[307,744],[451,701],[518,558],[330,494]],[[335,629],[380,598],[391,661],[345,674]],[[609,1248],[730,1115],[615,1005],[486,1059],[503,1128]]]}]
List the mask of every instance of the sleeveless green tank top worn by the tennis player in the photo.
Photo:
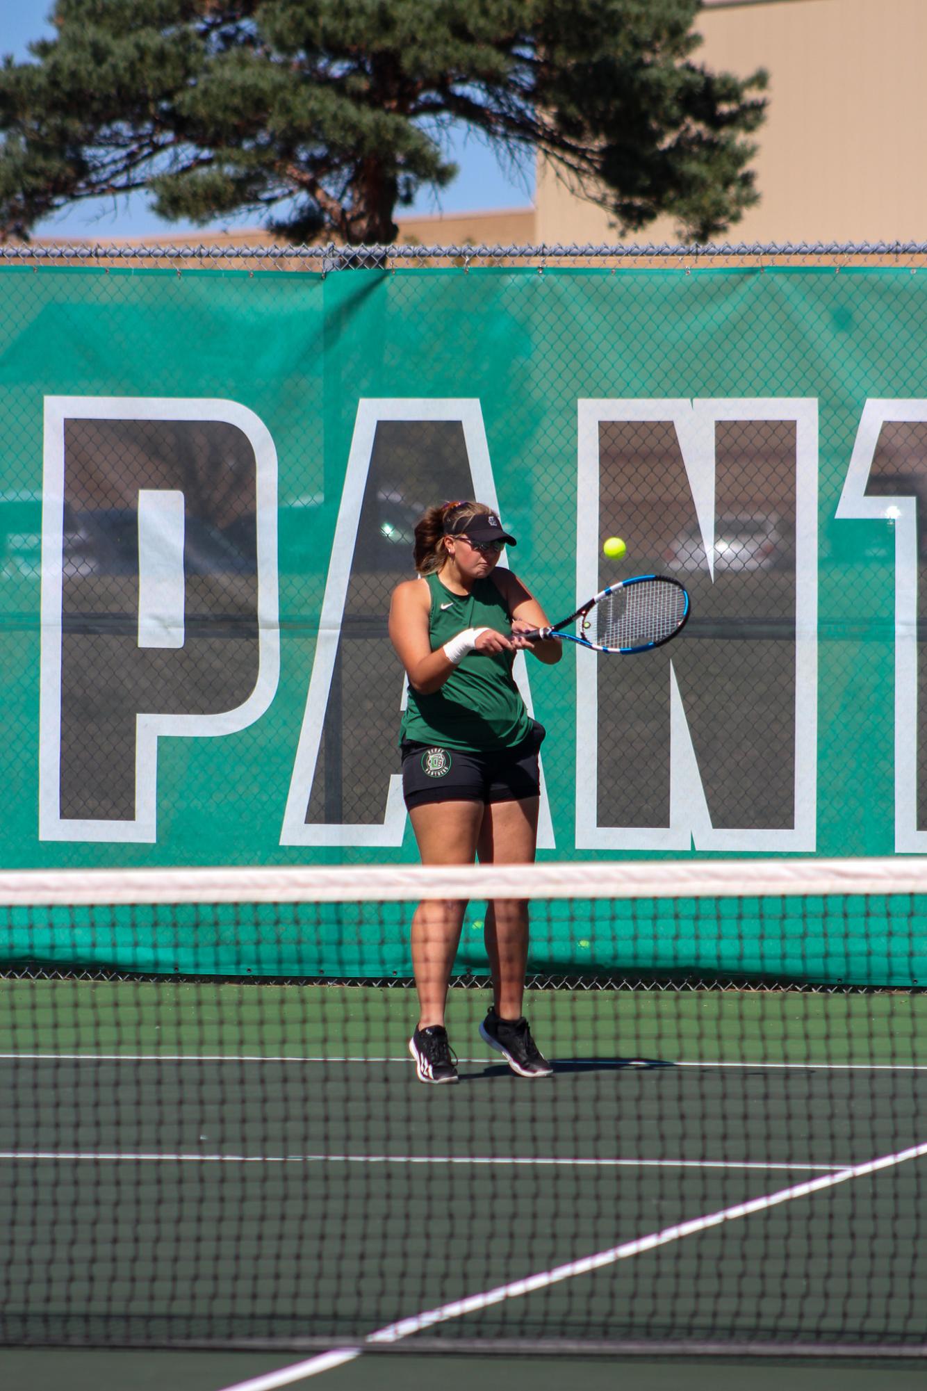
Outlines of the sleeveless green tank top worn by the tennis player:
[{"label": "sleeveless green tank top worn by the tennis player", "polygon": [[[431,593],[432,652],[466,627],[510,632],[506,602],[491,579],[477,580],[470,594],[453,594],[436,574],[425,574],[424,581]],[[439,690],[425,696],[410,686],[400,743],[478,753],[520,744],[531,719],[511,676],[513,662],[514,652],[467,652]]]}]

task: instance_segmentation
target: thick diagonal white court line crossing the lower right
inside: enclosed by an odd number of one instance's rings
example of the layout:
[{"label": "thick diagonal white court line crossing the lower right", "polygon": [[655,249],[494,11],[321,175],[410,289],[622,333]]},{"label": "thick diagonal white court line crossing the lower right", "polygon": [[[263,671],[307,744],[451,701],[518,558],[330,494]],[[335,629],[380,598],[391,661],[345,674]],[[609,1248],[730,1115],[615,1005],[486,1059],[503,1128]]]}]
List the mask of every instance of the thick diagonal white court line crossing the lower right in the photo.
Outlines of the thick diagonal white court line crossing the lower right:
[{"label": "thick diagonal white court line crossing the lower right", "polygon": [[[878,1159],[870,1159],[864,1164],[853,1164],[849,1168],[841,1168],[837,1173],[827,1174],[823,1178],[812,1178],[803,1184],[792,1184],[789,1188],[780,1188],[776,1193],[769,1193],[763,1198],[753,1198],[746,1203],[735,1203],[732,1207],[723,1207],[719,1212],[707,1213],[703,1217],[695,1217],[691,1221],[677,1223],[673,1227],[664,1227],[662,1231],[650,1232],[648,1237],[639,1237],[635,1241],[625,1241],[620,1246],[610,1246],[607,1251],[598,1251],[592,1256],[584,1256],[580,1260],[570,1260],[564,1266],[556,1266],[553,1270],[542,1270],[535,1276],[528,1276],[524,1280],[513,1280],[507,1285],[498,1285],[495,1289],[486,1289],[481,1294],[470,1295],[466,1299],[454,1299],[450,1303],[439,1305],[436,1309],[428,1309],[424,1313],[414,1314],[411,1319],[402,1319],[397,1323],[386,1324],[384,1328],[378,1328],[364,1338],[364,1345],[377,1342],[399,1342],[402,1338],[409,1338],[414,1333],[421,1333],[423,1328],[431,1328],[438,1323],[446,1323],[450,1319],[460,1319],[463,1314],[477,1313],[481,1309],[488,1309],[492,1305],[503,1303],[506,1299],[517,1299],[521,1295],[534,1294],[536,1289],[546,1289],[549,1285],[559,1284],[563,1280],[571,1280],[574,1276],[585,1276],[593,1270],[602,1270],[605,1266],[613,1266],[618,1260],[627,1260],[631,1256],[639,1256],[646,1251],[655,1251],[657,1246],[667,1246],[673,1241],[682,1241],[685,1237],[694,1237],[700,1231],[706,1231],[710,1227],[720,1227],[728,1221],[737,1221],[741,1217],[749,1217],[753,1213],[767,1212],[770,1207],[777,1207],[780,1203],[792,1202],[796,1198],[807,1198],[810,1193],[823,1192],[827,1188],[834,1188],[837,1184],[845,1184],[851,1178],[863,1178],[866,1174],[874,1174],[881,1168],[892,1168],[896,1164],[903,1164],[910,1159],[921,1159],[927,1155],[927,1143],[914,1145],[910,1149],[899,1150],[895,1155],[881,1155]],[[352,1358],[360,1356],[363,1346],[360,1348],[345,1348],[338,1349],[334,1353],[324,1353],[321,1358],[310,1358],[307,1362],[297,1362],[292,1367],[284,1367],[282,1372],[270,1372],[267,1376],[257,1377],[252,1381],[239,1381],[235,1385],[225,1387],[222,1391],[275,1391],[277,1387],[292,1385],[293,1381],[300,1381],[307,1377],[317,1376],[320,1372],[327,1372],[328,1366],[339,1366],[342,1362],[349,1362]],[[338,1356],[338,1363],[325,1365],[325,1359],[331,1356]]]}]

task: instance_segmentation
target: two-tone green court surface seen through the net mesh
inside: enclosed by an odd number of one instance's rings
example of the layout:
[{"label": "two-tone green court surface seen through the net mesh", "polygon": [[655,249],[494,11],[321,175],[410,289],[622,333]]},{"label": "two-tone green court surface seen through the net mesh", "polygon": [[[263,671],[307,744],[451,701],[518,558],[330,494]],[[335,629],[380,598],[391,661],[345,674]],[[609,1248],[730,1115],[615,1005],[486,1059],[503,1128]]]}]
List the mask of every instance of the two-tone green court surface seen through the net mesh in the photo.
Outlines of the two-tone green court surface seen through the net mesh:
[{"label": "two-tone green court surface seen through the net mesh", "polygon": [[6,982],[4,1341],[924,1344],[923,996],[536,990],[539,1082],[485,1006],[425,1088],[403,989]]}]

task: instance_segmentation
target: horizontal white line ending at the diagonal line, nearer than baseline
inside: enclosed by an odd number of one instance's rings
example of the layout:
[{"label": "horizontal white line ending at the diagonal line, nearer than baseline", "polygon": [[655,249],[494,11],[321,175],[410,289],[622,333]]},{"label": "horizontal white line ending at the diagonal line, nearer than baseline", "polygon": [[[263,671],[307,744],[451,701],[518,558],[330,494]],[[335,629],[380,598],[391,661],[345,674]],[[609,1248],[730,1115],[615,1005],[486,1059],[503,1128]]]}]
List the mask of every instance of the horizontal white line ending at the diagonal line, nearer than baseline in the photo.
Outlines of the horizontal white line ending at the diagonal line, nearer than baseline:
[{"label": "horizontal white line ending at the diagonal line, nearer than baseline", "polygon": [[826,1174],[842,1173],[845,1164],[788,1164],[781,1160],[727,1160],[727,1159],[575,1159],[573,1156],[496,1156],[496,1155],[195,1155],[125,1152],[125,1150],[63,1150],[63,1149],[6,1149],[3,1159],[58,1159],[58,1160],[128,1160],[131,1163],[190,1163],[190,1164],[499,1164],[510,1168],[513,1164],[556,1168],[798,1168],[823,1170]]}]

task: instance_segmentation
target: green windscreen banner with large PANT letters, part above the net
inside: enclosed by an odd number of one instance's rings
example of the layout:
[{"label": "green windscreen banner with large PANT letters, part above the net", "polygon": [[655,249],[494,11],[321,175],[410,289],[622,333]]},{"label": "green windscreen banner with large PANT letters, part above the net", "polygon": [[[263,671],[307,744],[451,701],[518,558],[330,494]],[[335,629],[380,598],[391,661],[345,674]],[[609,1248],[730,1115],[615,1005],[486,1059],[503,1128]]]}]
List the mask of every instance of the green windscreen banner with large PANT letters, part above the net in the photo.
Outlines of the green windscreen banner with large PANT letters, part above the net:
[{"label": "green windscreen banner with large PANT letters, part above the net", "polygon": [[542,858],[924,851],[926,342],[909,268],[3,267],[3,868],[417,858],[386,613],[467,497],[552,620],[691,594],[518,657]]}]

